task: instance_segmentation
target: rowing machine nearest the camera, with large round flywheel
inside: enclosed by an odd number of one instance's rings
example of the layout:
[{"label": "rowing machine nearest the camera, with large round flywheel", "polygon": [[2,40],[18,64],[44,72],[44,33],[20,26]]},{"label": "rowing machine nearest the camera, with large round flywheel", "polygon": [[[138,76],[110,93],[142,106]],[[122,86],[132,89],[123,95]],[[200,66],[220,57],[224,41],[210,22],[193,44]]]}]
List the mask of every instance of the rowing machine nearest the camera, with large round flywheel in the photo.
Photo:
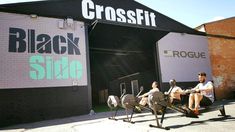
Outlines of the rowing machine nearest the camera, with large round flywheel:
[{"label": "rowing machine nearest the camera, with large round flywheel", "polygon": [[[194,90],[187,90],[186,94],[190,94],[193,92],[195,92],[195,91]],[[164,116],[165,116],[167,109],[171,109],[171,110],[183,113],[186,117],[199,118],[198,115],[195,115],[194,112],[192,110],[190,110],[188,107],[183,106],[183,105],[171,104],[169,95],[170,94],[163,94],[162,92],[154,92],[148,96],[148,105],[153,110],[154,115],[155,115],[155,119],[156,119],[156,125],[150,124],[149,125],[150,127],[161,128],[161,129],[166,129],[166,130],[170,129],[169,127],[162,126]],[[215,110],[220,111],[221,115],[219,115],[219,116],[226,117],[224,105],[207,106],[203,109],[200,109],[199,112],[205,113],[205,112],[215,111]],[[161,115],[162,117],[161,117],[160,122],[159,122],[159,118],[157,116],[158,111],[162,111],[162,115]]]}]

